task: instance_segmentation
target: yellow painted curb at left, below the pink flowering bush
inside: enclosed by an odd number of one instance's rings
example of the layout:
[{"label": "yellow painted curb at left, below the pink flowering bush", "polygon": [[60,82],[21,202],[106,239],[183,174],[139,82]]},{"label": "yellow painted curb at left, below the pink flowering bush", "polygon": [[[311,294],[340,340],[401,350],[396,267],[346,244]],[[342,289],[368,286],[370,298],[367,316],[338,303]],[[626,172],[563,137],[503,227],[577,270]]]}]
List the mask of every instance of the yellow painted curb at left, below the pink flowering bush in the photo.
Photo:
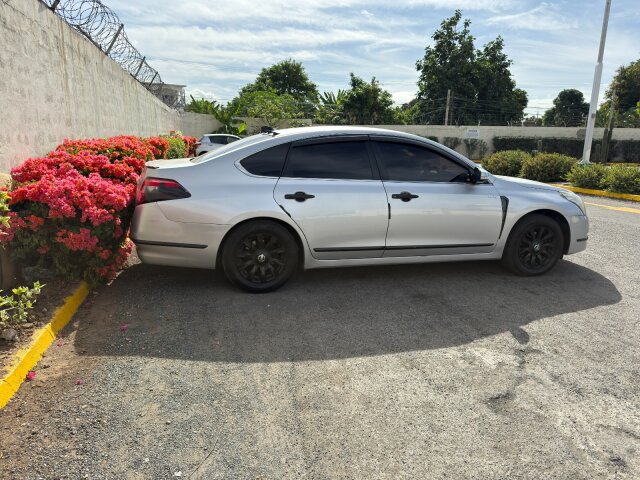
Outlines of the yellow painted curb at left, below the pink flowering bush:
[{"label": "yellow painted curb at left, below the pink flowering bush", "polygon": [[3,408],[24,382],[29,370],[42,358],[42,354],[53,343],[58,332],[73,318],[84,299],[89,294],[89,285],[81,282],[75,291],[69,295],[64,305],[56,309],[49,323],[39,328],[31,336],[31,342],[15,354],[11,364],[6,367],[4,376],[0,379],[0,408]]}]

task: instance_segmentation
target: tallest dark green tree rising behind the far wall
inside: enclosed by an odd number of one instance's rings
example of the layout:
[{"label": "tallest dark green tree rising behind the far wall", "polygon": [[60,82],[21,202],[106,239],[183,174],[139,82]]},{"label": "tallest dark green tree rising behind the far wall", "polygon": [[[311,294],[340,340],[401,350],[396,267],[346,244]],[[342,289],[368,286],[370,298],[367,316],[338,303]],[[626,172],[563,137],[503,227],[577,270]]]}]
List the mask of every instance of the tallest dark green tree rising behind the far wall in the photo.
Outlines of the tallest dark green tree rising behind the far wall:
[{"label": "tallest dark green tree rising behind the far wall", "polygon": [[[460,26],[460,23],[462,25]],[[516,88],[503,52],[504,40],[497,37],[481,50],[474,46],[471,21],[462,12],[442,21],[416,62],[420,72],[418,100],[420,123],[444,123],[447,92],[453,92],[452,123],[504,124],[519,122],[527,106],[527,95]]]}]

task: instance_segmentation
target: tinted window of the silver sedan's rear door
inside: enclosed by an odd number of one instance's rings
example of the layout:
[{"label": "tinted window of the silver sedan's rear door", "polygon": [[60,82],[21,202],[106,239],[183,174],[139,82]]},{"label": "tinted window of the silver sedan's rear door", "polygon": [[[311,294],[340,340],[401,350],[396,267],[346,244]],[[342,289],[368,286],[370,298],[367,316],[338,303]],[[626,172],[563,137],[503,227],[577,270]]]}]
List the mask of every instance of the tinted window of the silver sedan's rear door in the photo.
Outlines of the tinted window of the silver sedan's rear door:
[{"label": "tinted window of the silver sedan's rear door", "polygon": [[318,143],[292,147],[286,177],[371,180],[365,142]]}]

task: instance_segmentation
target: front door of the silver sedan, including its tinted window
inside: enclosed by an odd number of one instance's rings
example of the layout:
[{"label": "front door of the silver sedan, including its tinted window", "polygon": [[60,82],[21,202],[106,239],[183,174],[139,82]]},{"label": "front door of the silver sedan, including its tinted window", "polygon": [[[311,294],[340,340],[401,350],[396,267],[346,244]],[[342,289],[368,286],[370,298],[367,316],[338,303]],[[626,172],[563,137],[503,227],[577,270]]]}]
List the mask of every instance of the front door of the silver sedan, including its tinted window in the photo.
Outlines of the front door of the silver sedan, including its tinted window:
[{"label": "front door of the silver sedan, including its tinted window", "polygon": [[375,139],[390,205],[384,256],[491,252],[502,227],[502,201],[470,169],[419,143]]}]

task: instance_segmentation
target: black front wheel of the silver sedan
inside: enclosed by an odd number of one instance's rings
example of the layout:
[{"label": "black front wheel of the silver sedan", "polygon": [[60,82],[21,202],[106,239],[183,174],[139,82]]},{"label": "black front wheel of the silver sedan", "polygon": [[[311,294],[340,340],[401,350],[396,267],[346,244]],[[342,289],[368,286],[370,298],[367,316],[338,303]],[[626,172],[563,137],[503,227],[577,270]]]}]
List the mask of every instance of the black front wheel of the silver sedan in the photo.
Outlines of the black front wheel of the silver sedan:
[{"label": "black front wheel of the silver sedan", "polygon": [[516,275],[542,275],[562,258],[564,236],[558,222],[532,214],[520,220],[507,239],[502,264]]}]

